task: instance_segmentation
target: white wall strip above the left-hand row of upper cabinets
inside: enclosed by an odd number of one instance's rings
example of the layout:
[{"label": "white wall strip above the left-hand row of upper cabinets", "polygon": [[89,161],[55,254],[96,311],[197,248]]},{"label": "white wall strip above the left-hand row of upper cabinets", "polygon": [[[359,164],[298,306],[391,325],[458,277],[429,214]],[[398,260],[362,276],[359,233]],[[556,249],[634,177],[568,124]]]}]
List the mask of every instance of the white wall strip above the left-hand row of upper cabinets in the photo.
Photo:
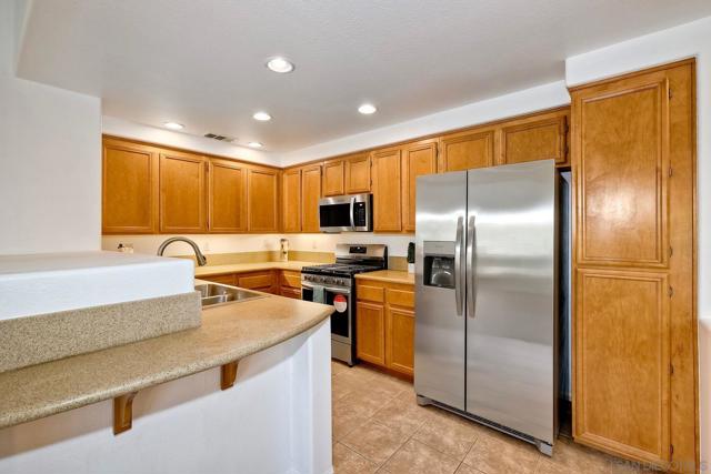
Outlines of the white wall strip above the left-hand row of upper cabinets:
[{"label": "white wall strip above the left-hand row of upper cabinets", "polygon": [[204,137],[191,135],[188,133],[173,132],[157,127],[143,125],[129,120],[116,117],[103,115],[101,131],[110,135],[124,139],[142,140],[158,143],[166,147],[176,147],[198,153],[217,154],[226,158],[233,158],[251,161],[259,164],[280,165],[279,159],[272,154],[251,148],[237,147],[231,143],[223,143]]}]

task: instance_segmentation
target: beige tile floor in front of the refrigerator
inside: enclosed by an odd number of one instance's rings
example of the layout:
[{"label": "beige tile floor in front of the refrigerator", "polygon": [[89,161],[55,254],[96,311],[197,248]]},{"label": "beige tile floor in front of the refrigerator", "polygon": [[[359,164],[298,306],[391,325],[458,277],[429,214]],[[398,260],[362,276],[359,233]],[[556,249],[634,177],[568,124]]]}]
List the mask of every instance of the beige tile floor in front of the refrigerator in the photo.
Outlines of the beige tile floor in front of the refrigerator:
[{"label": "beige tile floor in front of the refrigerator", "polygon": [[412,384],[332,363],[337,474],[633,474],[647,472],[559,440],[553,457],[443,410],[418,406]]}]

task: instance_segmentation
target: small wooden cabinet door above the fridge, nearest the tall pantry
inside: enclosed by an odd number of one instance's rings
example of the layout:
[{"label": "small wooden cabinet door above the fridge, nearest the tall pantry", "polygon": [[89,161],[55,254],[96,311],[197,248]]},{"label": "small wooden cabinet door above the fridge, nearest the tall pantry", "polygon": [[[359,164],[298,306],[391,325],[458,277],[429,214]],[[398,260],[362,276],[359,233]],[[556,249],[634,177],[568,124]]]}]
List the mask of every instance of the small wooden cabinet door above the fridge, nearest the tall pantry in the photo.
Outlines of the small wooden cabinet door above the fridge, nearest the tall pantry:
[{"label": "small wooden cabinet door above the fridge, nearest the tall pantry", "polygon": [[568,162],[565,135],[568,111],[558,111],[514,120],[501,129],[500,164],[555,160]]}]

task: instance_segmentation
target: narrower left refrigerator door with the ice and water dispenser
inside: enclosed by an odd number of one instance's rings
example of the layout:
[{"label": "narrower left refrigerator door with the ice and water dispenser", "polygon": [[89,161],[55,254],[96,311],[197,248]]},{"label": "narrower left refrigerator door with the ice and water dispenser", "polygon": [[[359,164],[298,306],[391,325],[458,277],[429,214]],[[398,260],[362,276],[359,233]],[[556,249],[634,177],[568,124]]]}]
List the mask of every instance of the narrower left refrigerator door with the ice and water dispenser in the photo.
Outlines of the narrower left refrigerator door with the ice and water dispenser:
[{"label": "narrower left refrigerator door with the ice and water dispenser", "polygon": [[414,389],[464,410],[467,172],[417,180]]}]

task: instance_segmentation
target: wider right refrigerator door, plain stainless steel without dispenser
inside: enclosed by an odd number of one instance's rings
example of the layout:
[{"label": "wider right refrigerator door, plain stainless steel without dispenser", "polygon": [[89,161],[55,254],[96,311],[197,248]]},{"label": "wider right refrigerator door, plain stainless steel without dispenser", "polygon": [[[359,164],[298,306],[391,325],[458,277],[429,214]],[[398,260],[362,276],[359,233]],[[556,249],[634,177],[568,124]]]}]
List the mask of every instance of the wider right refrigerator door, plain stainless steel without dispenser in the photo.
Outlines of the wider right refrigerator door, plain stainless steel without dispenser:
[{"label": "wider right refrigerator door, plain stainless steel without dispenser", "polygon": [[555,193],[552,160],[468,175],[465,411],[549,444],[555,420]]}]

